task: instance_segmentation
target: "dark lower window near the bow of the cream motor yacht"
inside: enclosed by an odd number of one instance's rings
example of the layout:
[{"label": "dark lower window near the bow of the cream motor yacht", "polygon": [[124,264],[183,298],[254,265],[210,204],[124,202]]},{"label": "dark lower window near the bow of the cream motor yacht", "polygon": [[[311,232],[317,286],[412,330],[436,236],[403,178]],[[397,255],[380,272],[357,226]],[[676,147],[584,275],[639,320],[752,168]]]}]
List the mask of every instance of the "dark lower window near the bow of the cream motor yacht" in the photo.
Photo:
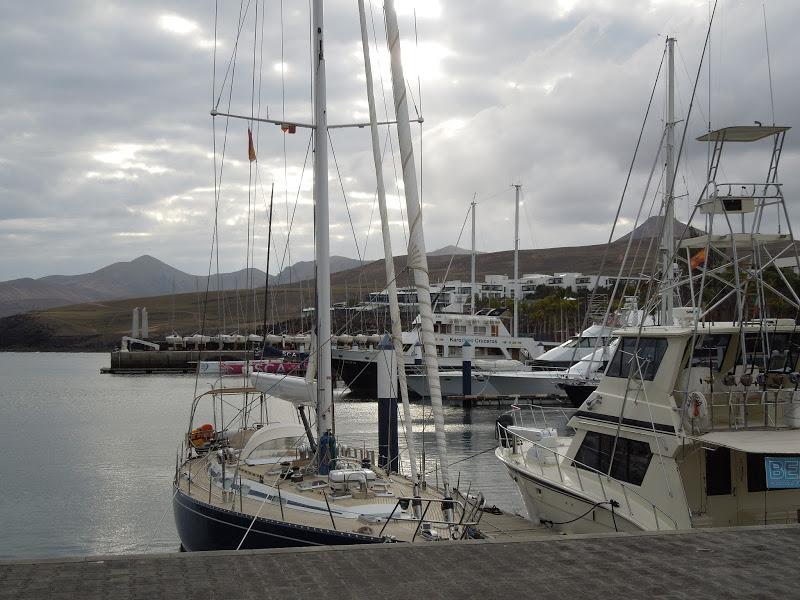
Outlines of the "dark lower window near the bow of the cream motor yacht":
[{"label": "dark lower window near the bow of the cream motor yacht", "polygon": [[573,464],[579,469],[589,467],[601,473],[608,473],[608,467],[611,465],[613,478],[633,485],[642,485],[653,456],[650,444],[620,436],[617,448],[614,450],[614,437],[597,431],[587,431]]}]

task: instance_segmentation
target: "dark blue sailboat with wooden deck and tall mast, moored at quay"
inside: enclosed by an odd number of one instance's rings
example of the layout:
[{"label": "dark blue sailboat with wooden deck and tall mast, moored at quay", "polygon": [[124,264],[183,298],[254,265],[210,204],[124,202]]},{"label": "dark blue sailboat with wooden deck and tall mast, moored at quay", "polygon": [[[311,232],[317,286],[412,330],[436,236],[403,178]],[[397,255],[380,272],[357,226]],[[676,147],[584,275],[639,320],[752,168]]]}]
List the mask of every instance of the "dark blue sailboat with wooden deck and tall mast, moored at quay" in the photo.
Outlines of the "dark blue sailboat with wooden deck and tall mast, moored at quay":
[{"label": "dark blue sailboat with wooden deck and tall mast, moored at quay", "polygon": [[[173,483],[175,523],[186,550],[272,548],[320,544],[432,541],[481,537],[483,498],[451,485],[438,379],[431,379],[438,466],[431,485],[417,469],[404,378],[400,388],[411,473],[401,473],[397,433],[396,361],[402,348],[399,313],[392,308],[392,336],[381,344],[385,368],[379,388],[379,448],[347,446],[335,433],[331,371],[330,265],[328,241],[328,124],[325,107],[325,53],[322,0],[312,3],[314,50],[313,125],[317,310],[314,341],[306,376],[253,373],[239,388],[218,388],[192,404],[186,442],[176,463]],[[363,1],[359,1],[362,42],[368,80],[370,128],[376,139],[371,93],[369,47]],[[403,180],[409,218],[409,267],[419,291],[421,338],[428,372],[437,372],[430,303],[430,284],[423,241],[417,178],[411,146],[405,79],[400,61],[397,17],[392,0],[385,3],[387,40]],[[215,110],[214,116],[238,118]],[[358,124],[363,126],[364,124]],[[379,184],[377,145],[373,144]],[[382,195],[379,185],[379,196]],[[385,198],[384,198],[385,200]],[[385,206],[381,210],[386,229]],[[387,236],[387,269],[391,259]],[[387,273],[389,273],[387,271]],[[389,284],[394,277],[390,273]],[[395,295],[396,297],[396,295]],[[397,316],[398,318],[395,318]],[[203,422],[206,421],[206,422]],[[201,424],[202,423],[202,424]]]}]

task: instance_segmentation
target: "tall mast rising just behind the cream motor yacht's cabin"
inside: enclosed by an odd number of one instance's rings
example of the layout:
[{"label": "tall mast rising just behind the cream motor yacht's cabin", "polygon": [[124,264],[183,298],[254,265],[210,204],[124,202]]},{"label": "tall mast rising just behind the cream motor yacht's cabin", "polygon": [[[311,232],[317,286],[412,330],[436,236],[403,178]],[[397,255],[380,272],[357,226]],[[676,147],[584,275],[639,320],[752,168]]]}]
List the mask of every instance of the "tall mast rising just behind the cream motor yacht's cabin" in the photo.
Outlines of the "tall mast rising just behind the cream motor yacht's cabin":
[{"label": "tall mast rising just behind the cream motor yacht's cabin", "polygon": [[667,123],[665,154],[667,159],[667,183],[664,192],[664,227],[661,238],[661,310],[659,323],[672,325],[673,297],[675,294],[672,272],[672,254],[675,246],[675,38],[667,38]]}]

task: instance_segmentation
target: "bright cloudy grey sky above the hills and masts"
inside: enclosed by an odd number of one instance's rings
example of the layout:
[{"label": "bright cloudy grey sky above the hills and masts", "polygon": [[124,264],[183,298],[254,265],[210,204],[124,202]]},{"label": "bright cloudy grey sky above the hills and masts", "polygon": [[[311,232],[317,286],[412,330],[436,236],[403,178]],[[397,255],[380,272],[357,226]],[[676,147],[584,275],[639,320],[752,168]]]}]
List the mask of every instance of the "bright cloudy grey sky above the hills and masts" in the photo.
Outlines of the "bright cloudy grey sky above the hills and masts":
[{"label": "bright cloudy grey sky above the hills and masts", "polygon": [[[376,93],[385,118],[391,90],[381,4],[367,4],[377,26],[370,36],[377,41]],[[250,214],[256,266],[263,268],[273,184],[271,270],[281,260],[311,258],[310,157],[303,168],[309,131],[256,128],[258,162],[251,174],[247,123],[218,117],[214,135],[209,116],[216,104],[221,111],[311,120],[308,2],[220,0],[218,6],[215,21],[211,0],[5,3],[0,280],[88,272],[142,254],[205,273],[215,143],[217,177],[222,172],[220,267],[244,266]],[[797,124],[800,5],[783,0],[765,6],[775,120]],[[398,1],[398,10],[406,76],[425,119],[415,136],[428,247],[456,243],[475,197],[478,249],[494,251],[513,247],[514,182],[523,185],[523,248],[607,238],[665,34],[678,39],[677,110],[683,118],[709,3],[419,0]],[[773,121],[763,10],[762,2],[720,0],[711,85],[704,66],[688,140],[707,128],[709,106],[714,127]],[[356,2],[326,2],[326,30],[329,122],[362,121],[367,107]],[[663,126],[662,87],[652,111],[623,211],[628,224]],[[405,233],[397,146],[385,128],[381,135],[400,254]],[[687,144],[677,183],[679,217],[704,181],[705,146]],[[332,131],[331,146],[332,253],[379,258],[369,131]],[[755,164],[747,155],[737,160],[731,164]],[[798,166],[798,142],[790,133],[781,163],[790,205],[800,186]],[[758,163],[753,176],[760,179],[765,170]],[[469,245],[468,232],[461,246]]]}]

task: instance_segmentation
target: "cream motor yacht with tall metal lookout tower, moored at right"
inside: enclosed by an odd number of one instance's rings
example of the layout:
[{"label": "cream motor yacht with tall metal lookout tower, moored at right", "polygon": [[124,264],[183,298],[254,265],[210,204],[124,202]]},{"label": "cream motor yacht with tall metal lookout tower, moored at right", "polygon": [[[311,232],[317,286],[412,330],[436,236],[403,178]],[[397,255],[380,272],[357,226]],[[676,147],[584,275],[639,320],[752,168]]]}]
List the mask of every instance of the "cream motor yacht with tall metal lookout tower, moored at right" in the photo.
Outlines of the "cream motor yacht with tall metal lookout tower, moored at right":
[{"label": "cream motor yacht with tall metal lookout tower, moored at right", "polygon": [[[797,521],[800,259],[777,176],[788,129],[725,127],[698,138],[711,146],[693,211],[706,233],[675,246],[663,236],[659,293],[645,308],[656,323],[614,331],[604,377],[568,415],[573,435],[560,435],[541,408],[498,420],[496,455],[532,519],[569,532]],[[772,150],[765,180],[718,180],[723,149],[752,152],[759,141]],[[668,188],[664,229],[671,200]],[[782,259],[795,273],[778,267]],[[674,307],[676,296],[689,302]]]}]

